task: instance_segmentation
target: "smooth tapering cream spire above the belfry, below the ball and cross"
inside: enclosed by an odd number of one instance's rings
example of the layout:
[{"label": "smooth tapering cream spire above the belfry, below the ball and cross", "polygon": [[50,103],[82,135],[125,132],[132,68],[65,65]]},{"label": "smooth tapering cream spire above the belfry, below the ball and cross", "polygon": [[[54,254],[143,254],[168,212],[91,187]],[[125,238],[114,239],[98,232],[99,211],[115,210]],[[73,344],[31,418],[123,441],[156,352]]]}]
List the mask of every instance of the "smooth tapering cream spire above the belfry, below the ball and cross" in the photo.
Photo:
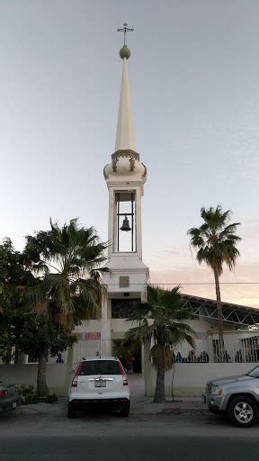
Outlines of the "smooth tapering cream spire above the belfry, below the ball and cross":
[{"label": "smooth tapering cream spire above the belfry, below the ball and cross", "polygon": [[[123,49],[122,49],[123,50]],[[129,50],[129,49],[127,49]],[[126,54],[126,53],[125,53]],[[135,138],[133,129],[133,117],[129,93],[129,76],[127,57],[123,58],[123,70],[121,79],[121,99],[117,123],[115,152],[117,150],[135,150]]]}]

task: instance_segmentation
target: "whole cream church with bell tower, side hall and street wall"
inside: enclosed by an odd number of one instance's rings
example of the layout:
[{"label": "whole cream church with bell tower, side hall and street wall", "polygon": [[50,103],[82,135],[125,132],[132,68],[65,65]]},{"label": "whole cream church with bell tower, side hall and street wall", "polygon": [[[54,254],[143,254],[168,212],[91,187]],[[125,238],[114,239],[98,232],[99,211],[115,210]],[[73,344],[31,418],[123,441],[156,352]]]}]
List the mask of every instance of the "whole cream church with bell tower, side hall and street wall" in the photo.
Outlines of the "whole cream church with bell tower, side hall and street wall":
[{"label": "whole cream church with bell tower, side hall and street wall", "polygon": [[[132,309],[131,303],[134,300],[145,301],[147,295],[149,271],[142,260],[141,229],[141,200],[147,181],[147,167],[141,162],[135,147],[128,76],[130,50],[126,45],[126,32],[131,29],[124,24],[124,28],[119,31],[124,32],[124,46],[120,50],[122,79],[116,141],[111,161],[103,168],[109,199],[109,246],[105,264],[108,270],[102,271],[103,285],[106,287],[102,315],[100,319],[82,321],[81,325],[76,326],[74,332],[77,342],[73,348],[67,349],[60,362],[56,363],[56,358],[49,357],[49,387],[57,393],[64,393],[68,388],[71,370],[76,368],[83,357],[121,357],[121,339],[132,326],[126,321]],[[192,309],[194,319],[189,323],[197,335],[195,351],[187,344],[175,346],[176,393],[201,395],[209,378],[229,373],[246,373],[251,362],[259,363],[258,309],[222,303],[224,344],[228,351],[226,360],[222,361],[217,354],[219,324],[216,301],[189,294],[182,294],[182,297],[183,302]],[[152,395],[156,384],[156,370],[148,360],[149,350],[149,345],[145,349],[127,349],[128,363],[125,365],[129,369],[129,362],[132,362],[130,371],[143,375],[145,393]],[[12,378],[13,382],[19,384],[35,384],[37,361],[37,357],[28,355],[24,358],[23,368],[21,365],[15,366],[13,362],[12,367],[2,365],[1,373],[6,373],[6,380]],[[167,372],[166,393],[170,394],[171,388],[172,373]]]}]

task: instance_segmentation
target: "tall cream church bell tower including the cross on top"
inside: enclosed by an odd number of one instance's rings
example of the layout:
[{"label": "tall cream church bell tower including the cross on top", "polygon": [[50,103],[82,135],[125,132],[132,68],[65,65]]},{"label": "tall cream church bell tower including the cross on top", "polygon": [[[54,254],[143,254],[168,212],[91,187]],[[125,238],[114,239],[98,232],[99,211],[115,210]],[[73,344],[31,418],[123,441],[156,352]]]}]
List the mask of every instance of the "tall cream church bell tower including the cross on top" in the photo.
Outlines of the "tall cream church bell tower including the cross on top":
[{"label": "tall cream church bell tower including the cross on top", "polygon": [[[129,303],[132,299],[143,299],[148,278],[148,268],[142,261],[141,230],[141,198],[147,180],[147,167],[140,162],[135,147],[129,94],[130,50],[126,45],[126,33],[132,30],[124,24],[124,28],[118,31],[124,32],[124,46],[120,50],[121,97],[115,151],[112,153],[111,163],[103,169],[109,191],[109,247],[105,266],[110,272],[103,274],[107,295],[103,297],[102,307],[102,353],[110,354],[112,333],[117,338],[122,333],[114,331],[115,322],[112,325],[112,319],[114,316],[118,319],[119,311],[120,318],[123,318],[123,306],[127,307],[127,301]],[[127,309],[124,318],[127,318]]]}]

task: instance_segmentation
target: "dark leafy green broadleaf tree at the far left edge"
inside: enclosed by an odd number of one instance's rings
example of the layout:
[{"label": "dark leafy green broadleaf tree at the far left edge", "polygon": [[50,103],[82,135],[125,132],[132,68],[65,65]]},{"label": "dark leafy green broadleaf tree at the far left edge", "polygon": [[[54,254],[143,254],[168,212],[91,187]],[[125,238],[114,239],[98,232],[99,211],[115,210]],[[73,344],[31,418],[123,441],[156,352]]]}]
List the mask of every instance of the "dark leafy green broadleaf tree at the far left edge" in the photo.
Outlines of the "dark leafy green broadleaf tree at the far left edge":
[{"label": "dark leafy green broadleaf tree at the far left edge", "polygon": [[[46,361],[71,347],[76,337],[46,316],[31,311],[27,290],[35,284],[31,271],[24,267],[21,253],[14,251],[11,240],[0,245],[0,355],[8,362],[20,351],[39,360],[37,390],[40,397],[49,393]],[[55,306],[52,306],[55,311]]]}]

